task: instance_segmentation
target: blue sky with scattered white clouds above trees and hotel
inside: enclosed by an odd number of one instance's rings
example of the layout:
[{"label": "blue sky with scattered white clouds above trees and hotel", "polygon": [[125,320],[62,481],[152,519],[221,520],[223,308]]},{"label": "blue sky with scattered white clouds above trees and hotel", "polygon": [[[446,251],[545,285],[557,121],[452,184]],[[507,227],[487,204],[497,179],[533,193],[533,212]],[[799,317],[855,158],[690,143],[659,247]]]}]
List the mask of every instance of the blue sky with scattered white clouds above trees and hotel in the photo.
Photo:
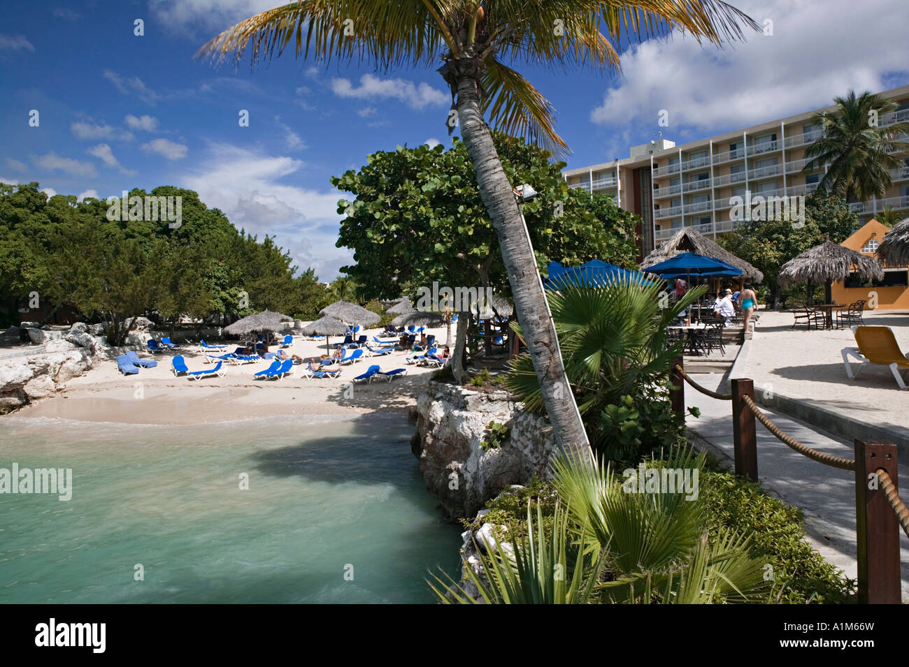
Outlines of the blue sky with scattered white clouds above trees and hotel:
[{"label": "blue sky with scattered white clouds above trees and hotel", "polygon": [[[744,0],[773,34],[718,51],[681,35],[626,48],[623,73],[521,71],[552,101],[569,167],[626,157],[662,130],[692,141],[830,103],[849,88],[909,83],[904,0]],[[192,188],[237,227],[269,233],[302,268],[331,280],[329,178],[396,144],[450,145],[451,103],[432,69],[296,61],[251,72],[195,61],[225,27],[274,0],[46,4],[6,0],[0,23],[0,181],[105,198],[157,185]],[[134,21],[145,22],[135,36]],[[29,127],[37,110],[40,125]],[[249,112],[249,127],[238,113]],[[669,127],[659,127],[661,109]],[[457,132],[455,130],[455,132]]]}]

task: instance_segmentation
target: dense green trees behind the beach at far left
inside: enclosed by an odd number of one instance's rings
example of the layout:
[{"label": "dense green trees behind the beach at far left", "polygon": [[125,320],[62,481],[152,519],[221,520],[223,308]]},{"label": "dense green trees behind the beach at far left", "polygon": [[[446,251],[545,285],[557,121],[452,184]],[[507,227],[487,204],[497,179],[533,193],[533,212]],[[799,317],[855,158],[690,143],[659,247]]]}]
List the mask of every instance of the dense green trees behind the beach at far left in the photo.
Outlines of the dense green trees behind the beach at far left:
[{"label": "dense green trees behind the beach at far left", "polygon": [[295,278],[296,267],[274,240],[238,231],[195,191],[159,187],[150,194],[182,197],[178,226],[109,221],[106,201],[48,199],[36,182],[0,184],[3,323],[27,319],[18,307],[33,291],[44,303],[103,319],[114,345],[139,315],[173,331],[181,315],[242,317],[260,309],[308,315],[329,302],[312,270]]}]

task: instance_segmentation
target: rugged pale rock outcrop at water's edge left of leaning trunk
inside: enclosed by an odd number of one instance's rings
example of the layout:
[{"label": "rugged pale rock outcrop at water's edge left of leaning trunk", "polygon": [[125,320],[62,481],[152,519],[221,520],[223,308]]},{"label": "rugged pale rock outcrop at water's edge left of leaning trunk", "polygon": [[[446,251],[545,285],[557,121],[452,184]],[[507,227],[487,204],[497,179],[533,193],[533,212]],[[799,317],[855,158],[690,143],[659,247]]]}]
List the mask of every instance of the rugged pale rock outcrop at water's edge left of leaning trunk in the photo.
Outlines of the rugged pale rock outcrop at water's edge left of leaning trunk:
[{"label": "rugged pale rock outcrop at water's edge left of leaning trunk", "polygon": [[[474,516],[505,487],[545,476],[552,429],[507,392],[486,393],[430,382],[416,403],[413,450],[426,486],[452,518]],[[484,448],[487,425],[511,427],[502,446]]]}]

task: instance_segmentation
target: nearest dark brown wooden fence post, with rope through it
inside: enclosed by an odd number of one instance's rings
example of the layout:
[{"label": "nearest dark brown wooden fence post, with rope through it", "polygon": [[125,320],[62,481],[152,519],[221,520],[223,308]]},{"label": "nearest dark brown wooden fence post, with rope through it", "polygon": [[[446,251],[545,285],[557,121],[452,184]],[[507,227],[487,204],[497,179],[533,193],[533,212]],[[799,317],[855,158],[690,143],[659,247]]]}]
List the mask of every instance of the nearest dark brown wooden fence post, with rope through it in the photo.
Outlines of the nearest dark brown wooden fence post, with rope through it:
[{"label": "nearest dark brown wooden fence post, with rope through it", "polygon": [[884,468],[898,488],[896,456],[892,443],[855,440],[859,604],[901,603],[899,525],[874,474]]}]

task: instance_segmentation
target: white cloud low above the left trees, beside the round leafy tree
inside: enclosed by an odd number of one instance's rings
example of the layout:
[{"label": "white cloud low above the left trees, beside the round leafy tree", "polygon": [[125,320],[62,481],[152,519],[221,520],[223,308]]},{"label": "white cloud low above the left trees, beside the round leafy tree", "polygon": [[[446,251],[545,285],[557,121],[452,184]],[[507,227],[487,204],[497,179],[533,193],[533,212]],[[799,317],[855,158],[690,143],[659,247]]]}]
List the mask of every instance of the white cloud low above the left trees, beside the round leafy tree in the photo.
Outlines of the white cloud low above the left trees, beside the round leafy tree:
[{"label": "white cloud low above the left trees, beside the round leafy tree", "polygon": [[195,172],[178,180],[208,206],[225,211],[237,228],[260,238],[275,236],[301,270],[312,267],[321,280],[332,280],[339,267],[353,260],[349,250],[335,248],[341,221],[337,202],[343,197],[340,191],[283,182],[304,167],[304,162],[285,155],[217,143]]}]

